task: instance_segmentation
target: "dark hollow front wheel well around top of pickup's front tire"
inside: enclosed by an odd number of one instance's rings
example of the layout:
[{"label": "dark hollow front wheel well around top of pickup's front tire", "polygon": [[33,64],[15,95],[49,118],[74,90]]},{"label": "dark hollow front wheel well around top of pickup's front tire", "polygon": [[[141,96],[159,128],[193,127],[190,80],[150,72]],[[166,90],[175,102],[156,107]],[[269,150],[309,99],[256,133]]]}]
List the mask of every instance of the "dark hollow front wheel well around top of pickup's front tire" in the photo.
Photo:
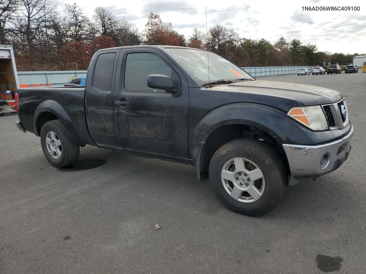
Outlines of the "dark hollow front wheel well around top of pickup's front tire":
[{"label": "dark hollow front wheel well around top of pickup's front tire", "polygon": [[232,124],[232,125],[221,126],[220,128],[210,133],[210,135],[206,138],[205,147],[201,152],[201,157],[203,157],[201,180],[208,179],[208,170],[210,161],[214,153],[217,151],[217,149],[219,149],[227,142],[243,137],[254,138],[268,144],[279,154],[279,156],[281,157],[281,159],[285,164],[286,171],[290,172],[287,156],[282,148],[282,145],[279,142],[277,142],[275,138],[273,138],[268,133],[254,126]]}]

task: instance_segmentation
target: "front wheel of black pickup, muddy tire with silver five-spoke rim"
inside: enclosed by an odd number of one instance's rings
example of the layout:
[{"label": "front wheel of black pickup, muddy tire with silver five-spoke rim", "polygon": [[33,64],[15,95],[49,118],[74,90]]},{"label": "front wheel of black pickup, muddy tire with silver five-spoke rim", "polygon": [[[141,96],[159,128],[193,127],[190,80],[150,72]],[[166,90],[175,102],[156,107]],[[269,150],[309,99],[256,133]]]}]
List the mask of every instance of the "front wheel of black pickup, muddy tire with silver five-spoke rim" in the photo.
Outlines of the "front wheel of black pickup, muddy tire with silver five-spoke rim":
[{"label": "front wheel of black pickup, muddy tire with silver five-spoke rim", "polygon": [[209,165],[210,186],[229,210],[258,217],[280,201],[287,176],[277,153],[266,143],[237,139],[219,148]]}]

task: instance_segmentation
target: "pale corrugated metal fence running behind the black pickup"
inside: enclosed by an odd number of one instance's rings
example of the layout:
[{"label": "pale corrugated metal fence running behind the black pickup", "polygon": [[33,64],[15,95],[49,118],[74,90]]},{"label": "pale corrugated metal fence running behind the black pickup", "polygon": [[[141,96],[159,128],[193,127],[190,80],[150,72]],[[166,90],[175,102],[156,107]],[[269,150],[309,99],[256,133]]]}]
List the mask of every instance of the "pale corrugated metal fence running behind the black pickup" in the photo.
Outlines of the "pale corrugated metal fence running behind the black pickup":
[{"label": "pale corrugated metal fence running behind the black pickup", "polygon": [[[297,73],[299,68],[313,69],[314,66],[258,66],[244,67],[244,71],[251,76],[270,76]],[[51,87],[62,87],[73,77],[86,76],[87,71],[20,71],[18,72],[20,84],[51,84]]]}]

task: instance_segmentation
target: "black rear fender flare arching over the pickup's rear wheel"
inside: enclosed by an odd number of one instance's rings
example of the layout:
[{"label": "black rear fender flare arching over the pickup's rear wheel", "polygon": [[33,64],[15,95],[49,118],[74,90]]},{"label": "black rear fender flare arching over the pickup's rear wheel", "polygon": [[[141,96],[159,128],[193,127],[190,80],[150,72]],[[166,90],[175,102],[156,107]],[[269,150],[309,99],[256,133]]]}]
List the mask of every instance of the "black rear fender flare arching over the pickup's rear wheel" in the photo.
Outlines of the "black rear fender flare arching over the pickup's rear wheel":
[{"label": "black rear fender flare arching over the pickup's rear wheel", "polygon": [[66,110],[61,106],[60,103],[54,101],[54,100],[45,100],[42,103],[40,103],[34,113],[34,119],[33,119],[33,127],[34,132],[37,136],[40,136],[41,132],[38,132],[37,128],[37,122],[40,116],[45,112],[51,112],[54,115],[57,116],[57,118],[60,119],[60,121],[63,123],[63,125],[66,127],[68,133],[70,134],[70,137],[75,138],[76,131],[74,128],[74,125],[72,125],[71,119],[69,115],[67,114]]}]

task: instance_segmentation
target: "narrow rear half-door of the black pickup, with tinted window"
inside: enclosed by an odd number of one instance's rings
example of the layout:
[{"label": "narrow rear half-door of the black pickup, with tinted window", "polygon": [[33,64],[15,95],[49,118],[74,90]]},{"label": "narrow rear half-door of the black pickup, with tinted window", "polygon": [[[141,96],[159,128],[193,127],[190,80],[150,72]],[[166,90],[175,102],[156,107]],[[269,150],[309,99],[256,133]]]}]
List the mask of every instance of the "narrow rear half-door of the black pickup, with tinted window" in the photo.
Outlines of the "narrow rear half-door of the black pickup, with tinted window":
[{"label": "narrow rear half-door of the black pickup, with tinted window", "polygon": [[120,49],[97,52],[86,76],[87,125],[90,136],[100,145],[117,146],[113,91],[119,53]]}]

